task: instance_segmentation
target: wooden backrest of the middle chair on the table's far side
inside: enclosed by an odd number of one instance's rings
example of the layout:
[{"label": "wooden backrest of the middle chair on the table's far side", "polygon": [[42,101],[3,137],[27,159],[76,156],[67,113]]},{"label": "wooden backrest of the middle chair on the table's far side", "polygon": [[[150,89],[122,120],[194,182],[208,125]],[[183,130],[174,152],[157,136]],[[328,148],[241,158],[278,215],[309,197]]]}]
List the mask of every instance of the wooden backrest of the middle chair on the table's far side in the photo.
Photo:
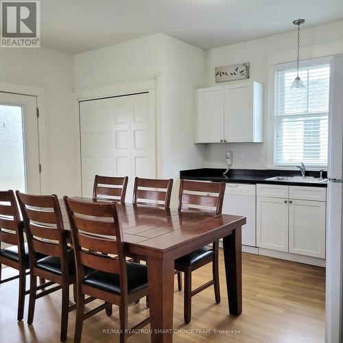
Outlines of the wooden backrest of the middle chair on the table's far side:
[{"label": "wooden backrest of the middle chair on the table's far side", "polygon": [[169,209],[173,179],[156,180],[152,178],[135,178],[133,189],[134,204],[151,204]]}]

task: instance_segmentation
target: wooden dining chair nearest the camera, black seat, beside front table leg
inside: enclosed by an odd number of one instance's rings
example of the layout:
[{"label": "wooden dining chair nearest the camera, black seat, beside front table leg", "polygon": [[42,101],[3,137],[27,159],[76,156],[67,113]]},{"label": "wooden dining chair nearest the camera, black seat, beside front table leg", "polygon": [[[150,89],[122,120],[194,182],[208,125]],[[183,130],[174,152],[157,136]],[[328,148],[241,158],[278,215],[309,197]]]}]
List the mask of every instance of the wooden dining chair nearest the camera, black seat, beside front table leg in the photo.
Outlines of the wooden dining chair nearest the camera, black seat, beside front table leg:
[{"label": "wooden dining chair nearest the camera, black seat, beside front table leg", "polygon": [[[64,197],[73,239],[77,311],[74,343],[81,341],[83,321],[102,309],[119,306],[120,342],[149,324],[150,317],[128,332],[128,305],[147,296],[147,266],[126,261],[123,230],[116,202],[82,202]],[[86,268],[96,271],[88,275]],[[84,313],[85,295],[104,304]]]}]

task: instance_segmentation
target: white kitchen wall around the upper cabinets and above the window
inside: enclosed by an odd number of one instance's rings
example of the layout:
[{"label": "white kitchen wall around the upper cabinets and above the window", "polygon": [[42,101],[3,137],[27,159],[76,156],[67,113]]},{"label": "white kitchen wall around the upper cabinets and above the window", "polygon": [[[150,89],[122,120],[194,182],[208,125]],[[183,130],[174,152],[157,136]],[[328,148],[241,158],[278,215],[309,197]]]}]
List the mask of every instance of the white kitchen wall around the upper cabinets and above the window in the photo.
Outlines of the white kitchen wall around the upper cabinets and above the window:
[{"label": "white kitchen wall around the upper cabinets and above the window", "polygon": [[[329,23],[303,29],[301,31],[301,47],[325,45],[343,39],[343,21]],[[250,81],[258,81],[265,87],[264,143],[213,143],[206,146],[206,167],[226,167],[225,152],[233,150],[234,168],[263,169],[268,166],[267,156],[267,99],[268,99],[268,63],[267,56],[292,51],[292,60],[296,60],[296,31],[278,34],[246,43],[227,45],[205,51],[206,81],[205,86],[215,86],[215,67],[250,62]],[[322,51],[325,49],[323,48]],[[300,50],[301,58],[301,50]],[[285,61],[286,62],[286,61]],[[221,82],[220,85],[241,83],[244,81]],[[244,154],[245,163],[239,163],[239,154]]]}]

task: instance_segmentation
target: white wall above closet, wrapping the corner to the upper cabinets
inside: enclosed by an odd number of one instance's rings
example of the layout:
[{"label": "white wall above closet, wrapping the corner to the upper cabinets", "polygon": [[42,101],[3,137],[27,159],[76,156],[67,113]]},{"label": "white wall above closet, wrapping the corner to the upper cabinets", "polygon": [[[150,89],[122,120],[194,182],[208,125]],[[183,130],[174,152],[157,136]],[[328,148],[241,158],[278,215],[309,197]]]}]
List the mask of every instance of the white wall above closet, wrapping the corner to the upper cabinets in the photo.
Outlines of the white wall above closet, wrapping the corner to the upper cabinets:
[{"label": "white wall above closet, wrapping the corner to the upper cabinets", "polygon": [[[203,84],[204,51],[154,34],[75,56],[77,89],[153,77],[158,80],[158,177],[177,181],[180,169],[204,165],[204,147],[193,144],[193,89]],[[174,204],[176,198],[174,193]]]}]

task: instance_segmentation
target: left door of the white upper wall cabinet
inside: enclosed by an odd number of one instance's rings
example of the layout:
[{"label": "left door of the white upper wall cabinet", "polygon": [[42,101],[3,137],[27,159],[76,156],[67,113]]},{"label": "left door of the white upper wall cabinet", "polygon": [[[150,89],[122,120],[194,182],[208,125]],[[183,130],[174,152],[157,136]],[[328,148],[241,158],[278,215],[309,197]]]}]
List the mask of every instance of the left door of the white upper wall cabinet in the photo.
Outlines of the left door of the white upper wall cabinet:
[{"label": "left door of the white upper wall cabinet", "polygon": [[195,143],[220,143],[224,139],[224,88],[197,91]]}]

